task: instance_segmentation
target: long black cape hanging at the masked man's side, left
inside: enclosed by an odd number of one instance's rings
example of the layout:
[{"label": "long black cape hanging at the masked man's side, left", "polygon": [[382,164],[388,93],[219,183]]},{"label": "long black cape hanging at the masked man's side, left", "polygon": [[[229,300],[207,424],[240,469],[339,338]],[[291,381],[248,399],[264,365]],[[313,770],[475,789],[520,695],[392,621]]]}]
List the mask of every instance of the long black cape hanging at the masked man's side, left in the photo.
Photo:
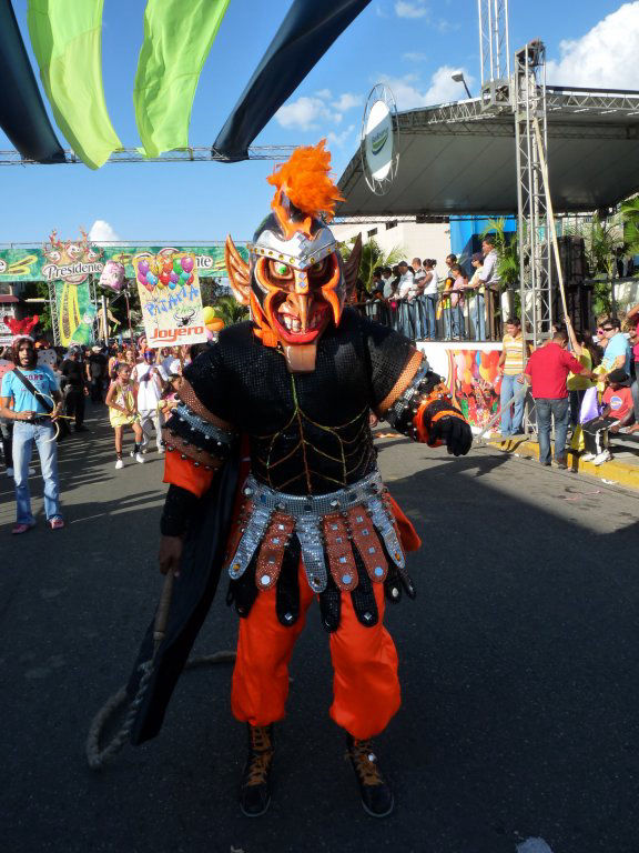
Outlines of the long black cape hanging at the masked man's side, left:
[{"label": "long black cape hanging at the masked man's side, left", "polygon": [[[211,489],[199,501],[184,541],[180,578],[173,585],[166,633],[158,651],[153,674],[138,711],[131,743],[141,744],[159,734],[178,679],[211,609],[222,564],[237,489],[240,454],[227,460]],[[142,672],[153,656],[153,621],[149,625],[126,685],[133,700]]]}]

